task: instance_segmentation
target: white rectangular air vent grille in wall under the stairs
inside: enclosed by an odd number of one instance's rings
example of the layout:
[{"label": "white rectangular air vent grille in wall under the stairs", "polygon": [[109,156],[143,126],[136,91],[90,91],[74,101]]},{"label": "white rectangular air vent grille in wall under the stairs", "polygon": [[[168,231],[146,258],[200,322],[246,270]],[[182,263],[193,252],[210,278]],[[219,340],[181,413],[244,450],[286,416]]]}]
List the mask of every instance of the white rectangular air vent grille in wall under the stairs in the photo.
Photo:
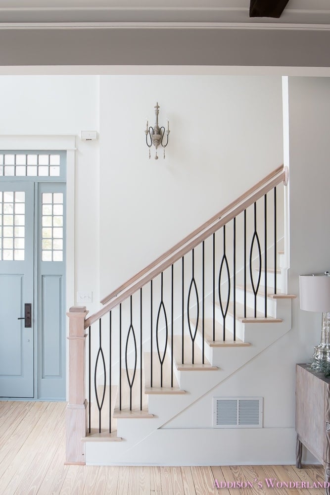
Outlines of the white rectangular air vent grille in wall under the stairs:
[{"label": "white rectangular air vent grille in wall under the stairs", "polygon": [[213,428],[262,428],[262,397],[213,397]]}]

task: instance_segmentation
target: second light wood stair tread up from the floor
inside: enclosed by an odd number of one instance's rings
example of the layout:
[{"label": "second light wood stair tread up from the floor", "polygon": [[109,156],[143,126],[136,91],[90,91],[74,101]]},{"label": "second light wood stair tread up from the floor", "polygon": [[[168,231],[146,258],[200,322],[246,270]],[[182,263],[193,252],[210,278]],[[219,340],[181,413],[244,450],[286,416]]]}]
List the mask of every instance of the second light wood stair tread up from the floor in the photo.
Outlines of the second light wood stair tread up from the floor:
[{"label": "second light wood stair tread up from the floor", "polygon": [[[128,370],[130,380],[133,378],[134,370]],[[144,376],[142,370],[142,408],[141,408],[141,370],[136,370],[132,386],[132,409],[130,408],[130,386],[126,369],[121,370],[121,409],[119,397],[119,385],[117,388],[116,405],[113,412],[114,418],[153,418],[148,412],[147,397],[144,392]]]}]

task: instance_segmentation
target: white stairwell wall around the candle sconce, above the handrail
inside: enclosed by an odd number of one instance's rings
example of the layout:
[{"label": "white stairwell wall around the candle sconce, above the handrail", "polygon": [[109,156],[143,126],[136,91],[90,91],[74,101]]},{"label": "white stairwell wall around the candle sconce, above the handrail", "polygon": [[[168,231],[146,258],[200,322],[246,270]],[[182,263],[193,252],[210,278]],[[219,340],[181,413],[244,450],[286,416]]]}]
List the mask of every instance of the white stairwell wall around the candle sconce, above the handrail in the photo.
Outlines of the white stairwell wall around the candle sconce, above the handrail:
[{"label": "white stairwell wall around the candle sconce, above the handrail", "polygon": [[[283,139],[279,77],[100,79],[103,297],[279,166]],[[157,100],[171,133],[155,161]]]}]

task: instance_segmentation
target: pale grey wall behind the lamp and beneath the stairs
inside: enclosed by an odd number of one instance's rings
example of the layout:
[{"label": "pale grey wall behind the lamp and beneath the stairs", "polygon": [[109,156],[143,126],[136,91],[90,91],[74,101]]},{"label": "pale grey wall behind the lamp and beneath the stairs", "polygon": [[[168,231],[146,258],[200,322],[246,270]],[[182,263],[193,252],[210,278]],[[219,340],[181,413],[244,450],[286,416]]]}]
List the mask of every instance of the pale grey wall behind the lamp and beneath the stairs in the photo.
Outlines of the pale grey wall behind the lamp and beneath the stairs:
[{"label": "pale grey wall behind the lamp and beneath the stairs", "polygon": [[[330,79],[293,77],[289,78],[288,88],[291,231],[288,292],[299,296],[299,274],[330,268]],[[301,311],[299,297],[293,300],[292,330],[166,428],[211,428],[212,397],[263,396],[264,427],[287,429],[287,436],[291,436],[295,421],[295,364],[309,361],[313,346],[320,342],[320,333],[321,314]],[[260,451],[262,448],[265,446],[260,444]],[[237,452],[237,462],[239,458]],[[311,455],[306,459],[313,461]],[[291,462],[294,461],[295,445],[292,445]]]}]

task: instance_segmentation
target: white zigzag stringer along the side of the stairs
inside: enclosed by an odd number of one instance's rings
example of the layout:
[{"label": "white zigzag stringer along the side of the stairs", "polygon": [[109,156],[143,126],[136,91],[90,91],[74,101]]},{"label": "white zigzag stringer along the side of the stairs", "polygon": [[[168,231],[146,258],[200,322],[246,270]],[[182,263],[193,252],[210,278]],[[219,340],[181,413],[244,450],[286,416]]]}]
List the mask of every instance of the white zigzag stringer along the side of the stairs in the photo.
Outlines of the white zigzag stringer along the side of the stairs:
[{"label": "white zigzag stringer along the side of the stairs", "polygon": [[[211,358],[210,362],[218,366],[218,370],[178,371],[180,388],[185,390],[186,394],[148,395],[148,411],[154,417],[149,419],[118,418],[117,435],[122,437],[123,441],[111,443],[103,439],[102,442],[86,443],[86,464],[164,465],[162,446],[150,449],[150,437],[157,435],[157,431],[159,432],[163,425],[287,333],[291,328],[290,299],[277,300],[277,317],[283,321],[242,324],[243,339],[241,340],[249,342],[250,346],[210,347],[207,350],[209,346],[205,343],[205,351]],[[171,464],[169,459],[168,465]]]}]

